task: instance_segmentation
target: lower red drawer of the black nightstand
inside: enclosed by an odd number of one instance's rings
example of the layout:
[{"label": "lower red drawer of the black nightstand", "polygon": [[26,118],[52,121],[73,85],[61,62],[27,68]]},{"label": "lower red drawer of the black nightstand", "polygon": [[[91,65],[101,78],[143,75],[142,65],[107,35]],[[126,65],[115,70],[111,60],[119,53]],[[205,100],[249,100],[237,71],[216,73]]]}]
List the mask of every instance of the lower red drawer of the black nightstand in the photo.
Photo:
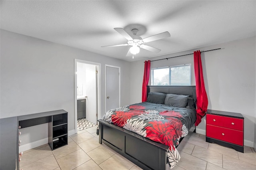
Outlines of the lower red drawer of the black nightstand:
[{"label": "lower red drawer of the black nightstand", "polygon": [[233,144],[244,146],[244,133],[239,130],[206,125],[206,137],[216,138]]}]

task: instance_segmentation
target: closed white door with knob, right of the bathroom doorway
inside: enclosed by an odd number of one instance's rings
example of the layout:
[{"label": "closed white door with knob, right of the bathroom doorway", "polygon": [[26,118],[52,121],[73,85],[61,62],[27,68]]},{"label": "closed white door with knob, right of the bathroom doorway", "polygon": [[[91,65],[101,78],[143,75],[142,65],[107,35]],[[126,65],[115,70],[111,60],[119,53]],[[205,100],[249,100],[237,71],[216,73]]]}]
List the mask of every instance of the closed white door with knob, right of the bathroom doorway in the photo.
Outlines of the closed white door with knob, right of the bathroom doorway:
[{"label": "closed white door with knob, right of the bathroom doorway", "polygon": [[106,66],[106,111],[120,107],[119,70],[118,67]]}]

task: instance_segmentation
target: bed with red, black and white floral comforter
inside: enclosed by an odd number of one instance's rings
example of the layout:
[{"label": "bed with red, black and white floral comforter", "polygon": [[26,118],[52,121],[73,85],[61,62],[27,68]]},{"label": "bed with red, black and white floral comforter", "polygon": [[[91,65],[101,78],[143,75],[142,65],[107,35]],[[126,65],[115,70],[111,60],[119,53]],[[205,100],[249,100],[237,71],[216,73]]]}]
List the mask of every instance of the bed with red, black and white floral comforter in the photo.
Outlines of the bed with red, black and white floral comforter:
[{"label": "bed with red, black and white floral comforter", "polygon": [[[168,103],[177,96],[190,104]],[[196,121],[195,101],[195,86],[148,86],[147,102],[111,109],[98,120],[99,143],[144,170],[173,168],[180,159],[176,147]]]}]

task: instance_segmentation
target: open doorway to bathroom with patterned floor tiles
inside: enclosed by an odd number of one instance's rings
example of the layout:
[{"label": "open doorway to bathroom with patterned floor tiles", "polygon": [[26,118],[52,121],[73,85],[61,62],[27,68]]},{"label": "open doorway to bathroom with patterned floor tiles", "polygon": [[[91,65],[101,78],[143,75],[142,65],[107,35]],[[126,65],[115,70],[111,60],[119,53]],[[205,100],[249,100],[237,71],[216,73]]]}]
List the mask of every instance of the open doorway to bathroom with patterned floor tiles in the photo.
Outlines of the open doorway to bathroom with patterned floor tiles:
[{"label": "open doorway to bathroom with patterned floor tiles", "polygon": [[75,132],[97,125],[100,63],[75,59]]}]

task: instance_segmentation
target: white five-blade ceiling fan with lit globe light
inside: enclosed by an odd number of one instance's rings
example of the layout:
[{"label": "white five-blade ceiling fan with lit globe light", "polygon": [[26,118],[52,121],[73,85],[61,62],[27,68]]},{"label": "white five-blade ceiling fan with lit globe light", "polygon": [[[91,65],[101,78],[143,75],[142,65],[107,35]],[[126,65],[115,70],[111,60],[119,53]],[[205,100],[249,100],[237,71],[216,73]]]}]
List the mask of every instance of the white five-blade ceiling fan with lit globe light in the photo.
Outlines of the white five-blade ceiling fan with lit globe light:
[{"label": "white five-blade ceiling fan with lit globe light", "polygon": [[130,53],[132,53],[134,55],[138,54],[140,52],[140,48],[158,53],[161,51],[161,49],[151,47],[149,45],[145,45],[144,43],[160,40],[163,38],[168,38],[171,36],[170,33],[168,31],[166,31],[166,32],[162,32],[160,34],[156,34],[154,36],[150,36],[150,37],[142,39],[140,36],[136,36],[136,34],[138,33],[139,30],[134,28],[131,30],[132,34],[134,35],[133,36],[134,38],[132,38],[123,28],[114,28],[114,30],[116,30],[119,34],[124,36],[124,38],[126,38],[128,40],[128,42],[126,44],[106,45],[106,46],[101,46],[101,47],[118,47],[118,46],[131,45],[132,47],[130,47],[126,56],[130,55]]}]

